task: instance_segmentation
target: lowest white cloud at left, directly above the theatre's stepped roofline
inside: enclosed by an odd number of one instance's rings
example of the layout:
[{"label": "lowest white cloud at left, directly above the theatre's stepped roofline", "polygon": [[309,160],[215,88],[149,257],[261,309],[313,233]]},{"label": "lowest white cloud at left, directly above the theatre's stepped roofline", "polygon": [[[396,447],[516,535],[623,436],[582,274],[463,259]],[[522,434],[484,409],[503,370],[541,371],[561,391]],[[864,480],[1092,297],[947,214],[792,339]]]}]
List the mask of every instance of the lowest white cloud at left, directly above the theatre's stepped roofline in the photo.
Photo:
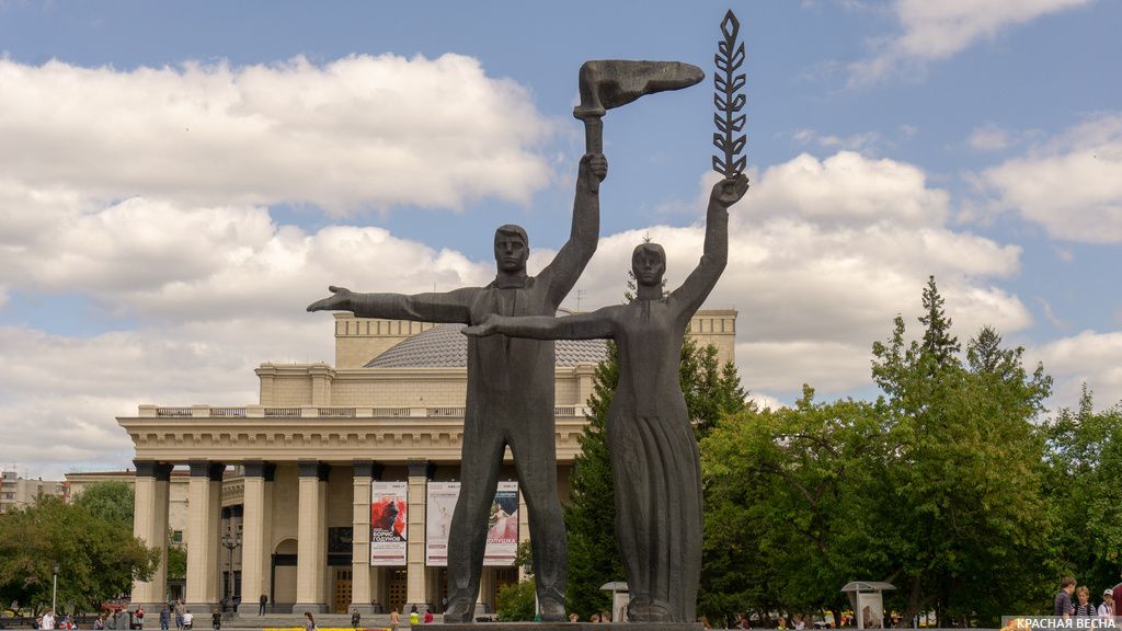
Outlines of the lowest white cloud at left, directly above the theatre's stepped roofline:
[{"label": "lowest white cloud at left, directly above the theatre's stepped roofline", "polygon": [[[132,446],[114,418],[138,404],[247,404],[263,360],[331,357],[332,324],[236,319],[70,338],[0,328],[0,427],[7,451],[61,476],[71,468],[122,467]],[[49,458],[43,455],[49,454]]]}]

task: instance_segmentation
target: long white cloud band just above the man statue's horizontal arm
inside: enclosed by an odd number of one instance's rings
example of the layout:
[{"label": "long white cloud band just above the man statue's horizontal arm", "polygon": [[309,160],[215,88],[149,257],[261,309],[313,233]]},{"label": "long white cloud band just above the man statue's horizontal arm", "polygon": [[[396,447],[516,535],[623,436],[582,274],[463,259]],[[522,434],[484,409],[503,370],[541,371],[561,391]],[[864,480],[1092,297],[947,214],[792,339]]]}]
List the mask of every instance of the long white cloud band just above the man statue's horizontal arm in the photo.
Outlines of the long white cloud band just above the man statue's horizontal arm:
[{"label": "long white cloud band just above the man statue's horizontal arm", "polygon": [[[3,186],[0,185],[0,194]],[[25,191],[26,193],[26,191]],[[34,203],[34,195],[25,201]],[[8,208],[21,201],[8,191]],[[34,228],[0,216],[0,285],[84,293],[117,314],[162,321],[298,317],[329,282],[385,291],[480,284],[486,264],[403,240],[376,227],[305,234],[259,207],[185,207],[134,198],[86,211],[62,201]],[[0,207],[2,208],[2,207]],[[26,217],[16,212],[13,217]]]}]

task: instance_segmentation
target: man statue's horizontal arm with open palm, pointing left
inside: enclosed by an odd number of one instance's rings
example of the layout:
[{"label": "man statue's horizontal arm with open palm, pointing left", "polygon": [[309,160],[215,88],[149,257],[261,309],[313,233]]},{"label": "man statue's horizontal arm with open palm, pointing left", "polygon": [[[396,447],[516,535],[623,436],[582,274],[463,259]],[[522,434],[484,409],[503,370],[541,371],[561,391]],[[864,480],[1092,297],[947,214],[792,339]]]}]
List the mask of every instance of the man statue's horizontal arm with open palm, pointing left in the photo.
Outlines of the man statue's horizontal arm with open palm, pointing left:
[{"label": "man statue's horizontal arm with open palm, pointing left", "polygon": [[463,324],[471,323],[471,301],[479,291],[477,287],[463,287],[445,293],[405,295],[358,293],[334,285],[328,290],[331,295],[309,304],[309,311],[350,311],[359,318]]}]

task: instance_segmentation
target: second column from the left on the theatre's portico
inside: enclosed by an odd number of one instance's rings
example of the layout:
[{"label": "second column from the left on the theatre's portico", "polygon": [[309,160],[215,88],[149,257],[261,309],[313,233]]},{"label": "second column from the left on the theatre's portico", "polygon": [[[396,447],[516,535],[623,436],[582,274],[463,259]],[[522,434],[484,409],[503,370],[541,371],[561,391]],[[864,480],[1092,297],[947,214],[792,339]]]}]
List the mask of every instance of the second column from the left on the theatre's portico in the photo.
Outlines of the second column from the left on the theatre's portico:
[{"label": "second column from the left on the theatre's portico", "polygon": [[219,523],[226,465],[192,460],[187,483],[187,606],[203,614],[218,605]]}]

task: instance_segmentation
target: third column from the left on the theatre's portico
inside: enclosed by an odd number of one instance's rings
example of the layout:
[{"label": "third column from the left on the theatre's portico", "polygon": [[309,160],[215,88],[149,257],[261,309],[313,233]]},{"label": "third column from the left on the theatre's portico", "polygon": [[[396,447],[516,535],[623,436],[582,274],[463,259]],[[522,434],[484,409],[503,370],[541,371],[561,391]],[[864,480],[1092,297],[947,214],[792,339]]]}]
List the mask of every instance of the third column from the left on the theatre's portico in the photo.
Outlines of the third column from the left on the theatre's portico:
[{"label": "third column from the left on the theatre's portico", "polygon": [[241,604],[238,613],[257,615],[261,594],[268,594],[269,521],[272,486],[276,465],[246,460],[241,530]]}]

